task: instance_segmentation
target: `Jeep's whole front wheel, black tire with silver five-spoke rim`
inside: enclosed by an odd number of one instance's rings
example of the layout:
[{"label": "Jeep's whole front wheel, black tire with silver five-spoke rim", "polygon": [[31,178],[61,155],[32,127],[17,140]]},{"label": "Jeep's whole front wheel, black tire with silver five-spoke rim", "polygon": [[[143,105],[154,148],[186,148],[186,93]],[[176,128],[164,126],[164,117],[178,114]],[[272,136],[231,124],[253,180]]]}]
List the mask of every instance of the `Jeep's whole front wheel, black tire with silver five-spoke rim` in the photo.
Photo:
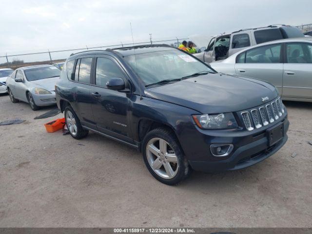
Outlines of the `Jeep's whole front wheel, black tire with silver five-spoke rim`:
[{"label": "Jeep's whole front wheel, black tire with silver five-spoke rim", "polygon": [[149,172],[164,184],[175,185],[191,173],[176,135],[166,128],[156,128],[144,137],[142,154]]}]

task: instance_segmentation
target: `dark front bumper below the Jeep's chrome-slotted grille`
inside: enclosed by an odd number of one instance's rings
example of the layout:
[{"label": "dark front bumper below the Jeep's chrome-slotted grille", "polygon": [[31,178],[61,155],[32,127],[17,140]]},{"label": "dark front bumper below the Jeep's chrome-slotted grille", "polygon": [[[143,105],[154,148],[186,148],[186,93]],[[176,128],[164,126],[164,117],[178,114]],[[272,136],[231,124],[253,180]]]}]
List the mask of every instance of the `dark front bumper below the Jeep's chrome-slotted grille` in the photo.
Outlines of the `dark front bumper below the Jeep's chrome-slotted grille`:
[{"label": "dark front bumper below the Jeep's chrome-slotted grille", "polygon": [[[262,160],[277,152],[286,143],[288,139],[287,131],[289,128],[287,115],[281,121],[278,121],[274,125],[271,125],[270,128],[278,126],[280,123],[283,123],[284,125],[284,135],[278,142],[276,142],[271,147],[269,147],[268,137],[266,134],[266,130],[268,128],[244,136],[240,135],[239,133],[220,133],[215,136],[202,135],[201,137],[196,137],[197,143],[194,142],[192,144],[193,155],[189,153],[189,147],[183,147],[182,142],[181,146],[182,148],[185,148],[183,149],[184,153],[191,167],[195,171],[214,173],[221,171],[238,170],[250,167],[258,162],[261,162]],[[190,138],[189,141],[191,141]],[[233,144],[234,150],[232,154],[227,157],[215,157],[212,156],[209,151],[209,145],[213,143]],[[197,158],[199,160],[196,160]]]}]

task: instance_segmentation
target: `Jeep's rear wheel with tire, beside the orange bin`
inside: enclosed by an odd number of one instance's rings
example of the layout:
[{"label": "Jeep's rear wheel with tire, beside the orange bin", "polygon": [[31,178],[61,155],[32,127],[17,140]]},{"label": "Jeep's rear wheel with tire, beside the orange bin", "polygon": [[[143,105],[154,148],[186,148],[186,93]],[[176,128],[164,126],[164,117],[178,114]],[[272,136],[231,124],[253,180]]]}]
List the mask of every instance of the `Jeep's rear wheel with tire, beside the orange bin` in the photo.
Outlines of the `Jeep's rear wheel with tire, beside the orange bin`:
[{"label": "Jeep's rear wheel with tire, beside the orange bin", "polygon": [[71,106],[65,107],[64,116],[67,129],[72,137],[81,139],[88,135],[89,131],[82,128],[80,120]]}]

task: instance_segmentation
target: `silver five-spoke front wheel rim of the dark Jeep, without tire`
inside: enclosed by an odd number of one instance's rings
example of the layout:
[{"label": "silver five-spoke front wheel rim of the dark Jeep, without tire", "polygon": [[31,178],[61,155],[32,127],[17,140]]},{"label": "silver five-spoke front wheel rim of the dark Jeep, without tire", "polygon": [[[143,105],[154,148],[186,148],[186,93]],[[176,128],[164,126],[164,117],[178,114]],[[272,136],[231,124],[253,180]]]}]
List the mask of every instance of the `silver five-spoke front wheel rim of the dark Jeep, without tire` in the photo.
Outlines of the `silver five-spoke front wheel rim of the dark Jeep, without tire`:
[{"label": "silver five-spoke front wheel rim of the dark Jeep, without tire", "polygon": [[153,171],[160,177],[172,179],[179,170],[179,162],[170,144],[161,138],[152,138],[146,145],[146,157]]}]

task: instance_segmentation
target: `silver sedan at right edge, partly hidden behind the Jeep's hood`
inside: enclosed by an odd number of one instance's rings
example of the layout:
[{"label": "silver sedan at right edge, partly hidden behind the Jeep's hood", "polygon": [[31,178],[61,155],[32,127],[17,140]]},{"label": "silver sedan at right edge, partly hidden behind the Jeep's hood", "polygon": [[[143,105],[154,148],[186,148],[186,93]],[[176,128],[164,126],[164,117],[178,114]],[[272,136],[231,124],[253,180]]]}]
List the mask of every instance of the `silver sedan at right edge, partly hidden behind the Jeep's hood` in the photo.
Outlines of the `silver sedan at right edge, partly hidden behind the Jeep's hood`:
[{"label": "silver sedan at right edge, partly hidden behind the Jeep's hood", "polygon": [[210,66],[218,72],[268,81],[284,100],[312,102],[312,37],[262,43]]}]

